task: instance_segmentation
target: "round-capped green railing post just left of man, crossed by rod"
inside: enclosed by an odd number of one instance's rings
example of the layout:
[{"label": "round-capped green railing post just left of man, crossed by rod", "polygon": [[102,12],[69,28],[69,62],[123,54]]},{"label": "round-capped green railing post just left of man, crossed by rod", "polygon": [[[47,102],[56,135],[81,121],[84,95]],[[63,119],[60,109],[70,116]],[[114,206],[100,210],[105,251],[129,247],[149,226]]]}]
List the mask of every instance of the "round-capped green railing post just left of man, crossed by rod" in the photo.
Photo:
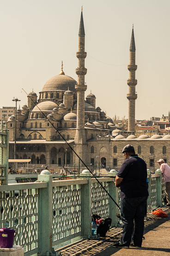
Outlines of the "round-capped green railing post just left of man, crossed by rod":
[{"label": "round-capped green railing post just left of man, crossed by rod", "polygon": [[[108,175],[109,175],[109,177],[115,177],[117,175],[117,172],[116,172],[116,170],[112,169],[108,173]],[[114,181],[109,182],[109,194],[115,200],[115,202],[118,203],[118,200],[117,200],[118,199],[118,189],[116,189]],[[115,227],[118,222],[116,213],[117,213],[117,206],[115,205],[113,200],[109,197],[109,217],[112,219],[112,224],[111,224],[112,227]]]}]

